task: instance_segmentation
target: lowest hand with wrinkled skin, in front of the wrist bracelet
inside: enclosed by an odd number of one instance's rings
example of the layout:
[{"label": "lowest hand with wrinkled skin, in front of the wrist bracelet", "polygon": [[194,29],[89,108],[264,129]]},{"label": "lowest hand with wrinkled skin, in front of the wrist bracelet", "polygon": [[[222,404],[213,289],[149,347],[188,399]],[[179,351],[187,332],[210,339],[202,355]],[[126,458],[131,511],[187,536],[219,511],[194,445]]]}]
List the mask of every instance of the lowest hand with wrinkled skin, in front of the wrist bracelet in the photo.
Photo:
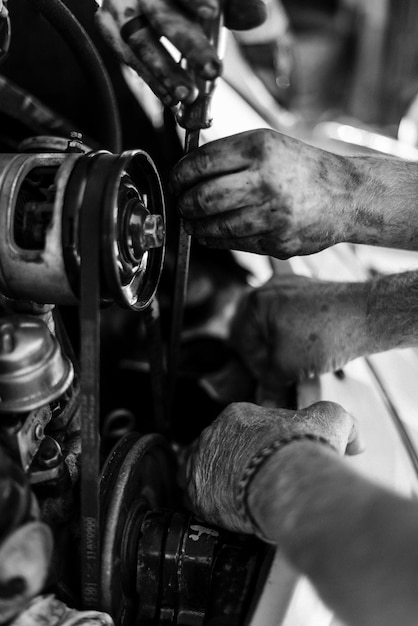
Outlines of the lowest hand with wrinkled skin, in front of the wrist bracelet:
[{"label": "lowest hand with wrinkled skin, in front of the wrist bracelet", "polygon": [[341,455],[360,450],[354,419],[333,402],[317,402],[300,411],[246,402],[229,405],[202,432],[188,458],[186,485],[192,508],[205,521],[251,533],[251,523],[237,510],[243,473],[263,448],[299,434],[323,437]]}]

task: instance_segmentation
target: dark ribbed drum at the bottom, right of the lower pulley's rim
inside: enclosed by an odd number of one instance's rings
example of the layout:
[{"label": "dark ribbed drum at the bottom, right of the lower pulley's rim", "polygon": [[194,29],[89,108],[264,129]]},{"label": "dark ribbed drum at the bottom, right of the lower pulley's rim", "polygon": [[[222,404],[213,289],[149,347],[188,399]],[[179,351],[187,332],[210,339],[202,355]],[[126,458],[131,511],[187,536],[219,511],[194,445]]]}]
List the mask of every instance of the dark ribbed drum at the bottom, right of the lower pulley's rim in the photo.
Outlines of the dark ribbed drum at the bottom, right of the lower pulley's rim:
[{"label": "dark ribbed drum at the bottom, right of the lower pulley's rim", "polygon": [[148,511],[138,541],[141,626],[247,623],[272,558],[266,544],[188,511]]}]

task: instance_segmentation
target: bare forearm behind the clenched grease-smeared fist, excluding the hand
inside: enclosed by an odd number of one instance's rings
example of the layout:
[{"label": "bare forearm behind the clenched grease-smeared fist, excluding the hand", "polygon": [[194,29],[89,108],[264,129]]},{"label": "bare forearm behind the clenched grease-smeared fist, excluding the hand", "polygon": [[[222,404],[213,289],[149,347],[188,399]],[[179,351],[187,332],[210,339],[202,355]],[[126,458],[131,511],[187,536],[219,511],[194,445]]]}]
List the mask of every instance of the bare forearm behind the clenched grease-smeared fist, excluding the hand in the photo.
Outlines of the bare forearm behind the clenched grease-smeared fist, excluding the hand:
[{"label": "bare forearm behind the clenched grease-smeared fist, excluding the hand", "polygon": [[346,207],[352,243],[418,250],[418,164],[385,157],[348,157]]}]

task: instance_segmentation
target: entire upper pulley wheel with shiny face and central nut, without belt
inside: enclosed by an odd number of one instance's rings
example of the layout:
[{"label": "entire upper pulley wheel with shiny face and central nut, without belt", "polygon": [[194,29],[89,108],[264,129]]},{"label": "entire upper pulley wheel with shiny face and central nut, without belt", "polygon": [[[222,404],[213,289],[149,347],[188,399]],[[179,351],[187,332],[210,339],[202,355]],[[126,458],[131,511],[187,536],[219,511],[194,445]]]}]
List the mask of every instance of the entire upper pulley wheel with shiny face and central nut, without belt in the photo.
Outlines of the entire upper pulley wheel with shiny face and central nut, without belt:
[{"label": "entire upper pulley wheel with shiny face and central nut, without belt", "polygon": [[64,191],[62,247],[65,269],[79,297],[80,213],[101,211],[102,302],[142,311],[151,302],[165,254],[165,208],[160,178],[142,150],[81,155]]}]

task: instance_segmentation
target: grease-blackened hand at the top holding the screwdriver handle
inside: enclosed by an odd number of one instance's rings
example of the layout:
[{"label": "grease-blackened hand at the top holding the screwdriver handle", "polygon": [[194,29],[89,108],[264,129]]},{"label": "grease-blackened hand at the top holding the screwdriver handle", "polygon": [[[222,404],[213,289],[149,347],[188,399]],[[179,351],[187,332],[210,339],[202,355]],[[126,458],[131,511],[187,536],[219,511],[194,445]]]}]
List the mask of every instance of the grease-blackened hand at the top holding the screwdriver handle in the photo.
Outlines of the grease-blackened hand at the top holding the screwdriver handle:
[{"label": "grease-blackened hand at the top holding the screwdriver handle", "polygon": [[[199,20],[218,13],[219,0],[103,0],[97,24],[121,60],[172,106],[193,102],[197,88],[160,38],[166,37],[198,75],[212,80],[220,74],[221,62]],[[234,29],[258,26],[267,17],[264,0],[226,0],[224,13],[226,26]]]}]

